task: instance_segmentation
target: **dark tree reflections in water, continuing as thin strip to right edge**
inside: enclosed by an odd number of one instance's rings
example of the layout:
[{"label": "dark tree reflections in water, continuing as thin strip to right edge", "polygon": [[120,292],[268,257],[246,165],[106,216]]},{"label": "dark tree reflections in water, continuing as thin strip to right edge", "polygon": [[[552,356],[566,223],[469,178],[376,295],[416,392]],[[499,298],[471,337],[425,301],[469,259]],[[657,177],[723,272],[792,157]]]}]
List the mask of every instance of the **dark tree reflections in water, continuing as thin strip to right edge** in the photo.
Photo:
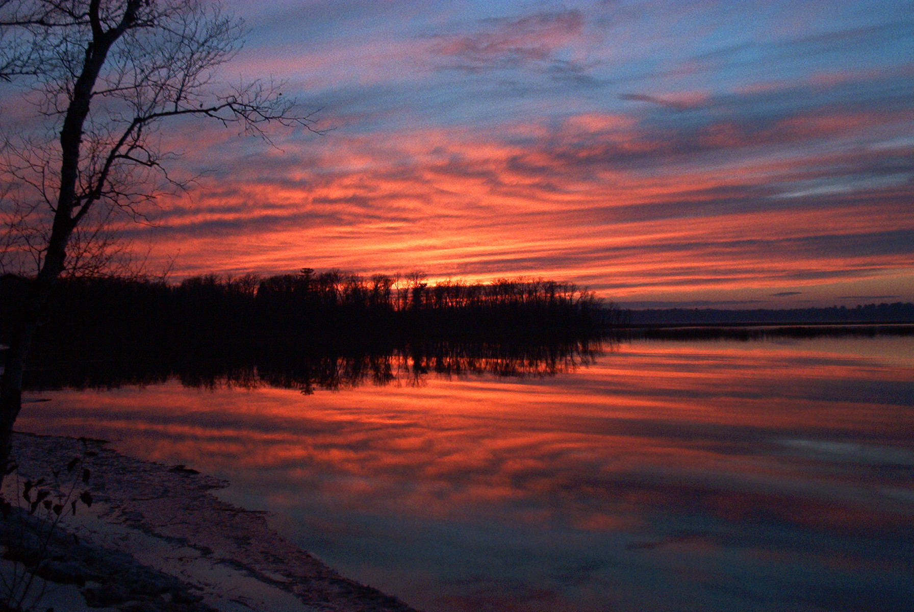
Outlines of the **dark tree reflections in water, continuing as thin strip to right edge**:
[{"label": "dark tree reflections in water, continuing as thin strip to right edge", "polygon": [[[914,325],[644,327],[611,333],[310,343],[301,338],[235,342],[231,336],[151,343],[113,338],[37,354],[30,390],[111,389],[179,380],[199,388],[271,386],[314,393],[359,385],[422,385],[428,376],[553,376],[587,367],[632,340],[776,340],[912,335]],[[53,355],[53,356],[50,356]]]}]

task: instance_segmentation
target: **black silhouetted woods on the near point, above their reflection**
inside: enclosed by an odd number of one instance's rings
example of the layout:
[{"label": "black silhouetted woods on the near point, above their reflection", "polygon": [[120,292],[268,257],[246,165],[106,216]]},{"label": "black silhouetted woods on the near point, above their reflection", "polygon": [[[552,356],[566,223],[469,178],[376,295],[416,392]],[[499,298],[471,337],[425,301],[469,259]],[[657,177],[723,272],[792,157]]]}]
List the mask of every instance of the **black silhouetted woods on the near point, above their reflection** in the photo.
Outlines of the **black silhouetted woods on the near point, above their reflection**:
[{"label": "black silhouetted woods on the near point, above their reflection", "polygon": [[[3,332],[27,283],[0,280]],[[207,275],[175,285],[76,278],[60,281],[37,340],[95,337],[150,348],[176,339],[212,345],[560,335],[599,332],[614,312],[593,293],[553,280],[429,285],[418,273],[361,277],[312,269],[268,278]]]}]

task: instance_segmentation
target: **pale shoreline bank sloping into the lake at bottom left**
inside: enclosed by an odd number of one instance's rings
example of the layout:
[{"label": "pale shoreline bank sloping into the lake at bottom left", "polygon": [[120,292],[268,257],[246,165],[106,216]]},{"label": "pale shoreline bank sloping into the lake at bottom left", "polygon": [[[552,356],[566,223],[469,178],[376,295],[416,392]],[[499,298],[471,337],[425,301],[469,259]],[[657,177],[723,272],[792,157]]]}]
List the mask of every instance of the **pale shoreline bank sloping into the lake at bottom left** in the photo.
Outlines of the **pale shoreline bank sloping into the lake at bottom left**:
[{"label": "pale shoreline bank sloping into the lake at bottom left", "polygon": [[[90,508],[80,503],[76,515],[58,527],[48,554],[52,582],[37,609],[413,609],[286,542],[270,530],[262,512],[219,501],[211,491],[227,482],[183,466],[125,457],[99,440],[16,434],[19,487],[25,479],[48,478],[87,448],[93,502]],[[16,478],[7,477],[6,499],[21,494],[15,488]],[[3,562],[4,573],[12,569],[11,561]]]}]

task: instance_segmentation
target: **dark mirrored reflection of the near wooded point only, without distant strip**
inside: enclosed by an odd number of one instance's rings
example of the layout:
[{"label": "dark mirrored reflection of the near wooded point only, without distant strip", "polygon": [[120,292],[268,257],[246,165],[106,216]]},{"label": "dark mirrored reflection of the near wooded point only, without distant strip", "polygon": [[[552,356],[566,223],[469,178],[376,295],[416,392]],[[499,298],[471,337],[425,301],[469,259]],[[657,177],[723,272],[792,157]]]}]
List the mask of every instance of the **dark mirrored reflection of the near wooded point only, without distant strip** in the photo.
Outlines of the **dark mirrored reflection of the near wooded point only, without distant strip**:
[{"label": "dark mirrored reflection of the near wooded point only, without distant strip", "polygon": [[[174,346],[155,353],[70,346],[63,358],[28,372],[32,390],[110,389],[176,379],[190,387],[345,389],[359,385],[422,385],[429,376],[551,376],[592,364],[611,338],[549,342],[426,342],[399,346],[255,344],[207,351]],[[107,355],[106,355],[107,352]],[[89,354],[91,354],[89,353]],[[111,355],[114,355],[113,357]]]}]

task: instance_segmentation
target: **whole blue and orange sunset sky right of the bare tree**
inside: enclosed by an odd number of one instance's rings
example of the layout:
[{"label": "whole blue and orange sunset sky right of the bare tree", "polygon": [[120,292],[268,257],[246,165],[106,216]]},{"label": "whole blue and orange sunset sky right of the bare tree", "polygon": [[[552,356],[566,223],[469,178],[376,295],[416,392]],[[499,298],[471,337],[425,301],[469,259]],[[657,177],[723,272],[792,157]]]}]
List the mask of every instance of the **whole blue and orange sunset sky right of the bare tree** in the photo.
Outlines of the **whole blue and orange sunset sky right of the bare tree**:
[{"label": "whole blue and orange sunset sky right of the bare tree", "polygon": [[151,234],[176,279],[421,269],[634,307],[914,301],[914,2],[227,5],[250,34],[223,76],[287,79],[329,132],[271,148],[186,126],[206,175]]}]

